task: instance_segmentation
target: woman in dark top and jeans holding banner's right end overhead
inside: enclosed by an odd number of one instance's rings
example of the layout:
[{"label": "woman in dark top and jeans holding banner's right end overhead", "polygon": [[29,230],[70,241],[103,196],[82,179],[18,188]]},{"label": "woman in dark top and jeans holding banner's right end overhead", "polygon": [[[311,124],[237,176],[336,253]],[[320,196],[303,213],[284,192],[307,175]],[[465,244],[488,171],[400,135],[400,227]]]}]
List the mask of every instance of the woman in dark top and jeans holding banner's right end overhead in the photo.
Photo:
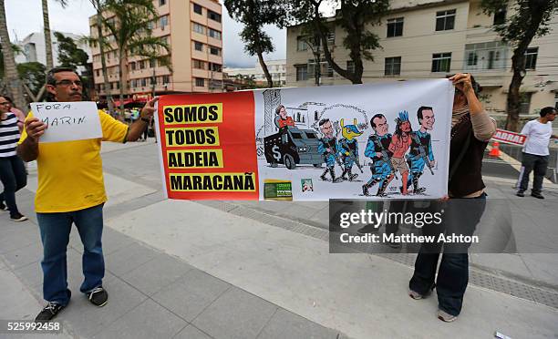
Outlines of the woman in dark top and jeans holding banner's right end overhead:
[{"label": "woman in dark top and jeans holding banner's right end overhead", "polygon": [[[451,114],[451,137],[449,150],[449,209],[445,223],[457,221],[460,228],[474,231],[486,204],[485,185],[482,182],[481,165],[488,140],[496,132],[496,122],[480,104],[480,86],[470,74],[449,77],[455,85],[455,97]],[[463,204],[467,206],[463,208]],[[460,209],[456,206],[460,205]],[[454,208],[456,207],[456,208]],[[452,217],[453,216],[453,217]],[[463,295],[469,282],[468,246],[464,251],[447,251],[444,246],[435,283],[439,252],[429,252],[421,247],[415,262],[415,272],[408,283],[411,298],[422,299],[436,287],[439,302],[438,317],[441,321],[457,319],[463,303]]]}]

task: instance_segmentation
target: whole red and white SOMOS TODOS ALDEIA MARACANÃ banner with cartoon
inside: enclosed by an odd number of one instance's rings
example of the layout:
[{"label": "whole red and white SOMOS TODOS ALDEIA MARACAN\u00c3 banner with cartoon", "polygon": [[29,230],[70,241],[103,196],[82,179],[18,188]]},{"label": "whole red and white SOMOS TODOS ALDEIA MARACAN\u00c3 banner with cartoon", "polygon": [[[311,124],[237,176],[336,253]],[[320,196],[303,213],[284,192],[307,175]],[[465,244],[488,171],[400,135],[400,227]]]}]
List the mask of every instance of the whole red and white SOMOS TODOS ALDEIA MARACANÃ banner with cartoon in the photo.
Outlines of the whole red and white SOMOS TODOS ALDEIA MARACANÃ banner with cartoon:
[{"label": "whole red and white SOMOS TODOS ALDEIA MARACAN\u00c3 banner with cartoon", "polygon": [[164,192],[186,200],[447,194],[447,79],[161,96]]}]

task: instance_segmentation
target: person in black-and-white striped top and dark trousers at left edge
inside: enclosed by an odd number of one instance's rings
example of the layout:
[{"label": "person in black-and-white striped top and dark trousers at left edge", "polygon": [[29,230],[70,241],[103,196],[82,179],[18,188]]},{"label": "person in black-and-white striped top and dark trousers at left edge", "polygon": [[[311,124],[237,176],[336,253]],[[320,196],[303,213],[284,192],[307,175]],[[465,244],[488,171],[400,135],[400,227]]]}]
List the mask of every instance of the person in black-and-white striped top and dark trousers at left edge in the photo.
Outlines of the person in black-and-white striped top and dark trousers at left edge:
[{"label": "person in black-and-white striped top and dark trousers at left edge", "polygon": [[15,153],[19,128],[18,119],[10,108],[10,101],[0,97],[0,181],[4,186],[0,193],[0,211],[10,211],[13,221],[26,221],[15,204],[15,192],[26,187],[27,174],[23,161]]}]

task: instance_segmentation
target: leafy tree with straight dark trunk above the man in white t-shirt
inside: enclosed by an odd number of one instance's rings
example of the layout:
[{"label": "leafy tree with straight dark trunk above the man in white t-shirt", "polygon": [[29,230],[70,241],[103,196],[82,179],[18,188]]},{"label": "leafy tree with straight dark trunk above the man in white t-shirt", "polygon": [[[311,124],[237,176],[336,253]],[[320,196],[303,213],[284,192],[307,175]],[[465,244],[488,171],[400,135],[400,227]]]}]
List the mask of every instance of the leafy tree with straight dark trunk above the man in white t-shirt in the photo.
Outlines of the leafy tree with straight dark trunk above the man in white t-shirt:
[{"label": "leafy tree with straight dark trunk above the man in white t-shirt", "polygon": [[[482,0],[482,10],[492,15],[507,8],[508,0]],[[512,15],[501,25],[494,26],[501,39],[513,48],[511,70],[513,76],[508,90],[506,129],[519,130],[521,106],[520,87],[525,72],[525,52],[534,37],[545,36],[550,32],[549,23],[558,9],[558,0],[515,0],[511,5]]]}]

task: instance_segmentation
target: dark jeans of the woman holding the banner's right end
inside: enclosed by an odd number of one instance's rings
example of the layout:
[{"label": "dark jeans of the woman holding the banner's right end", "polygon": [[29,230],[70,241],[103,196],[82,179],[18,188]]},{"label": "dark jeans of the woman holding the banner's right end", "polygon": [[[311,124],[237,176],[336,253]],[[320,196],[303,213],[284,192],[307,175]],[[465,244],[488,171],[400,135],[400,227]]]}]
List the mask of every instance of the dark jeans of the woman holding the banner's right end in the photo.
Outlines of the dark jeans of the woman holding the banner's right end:
[{"label": "dark jeans of the woman holding the banner's right end", "polygon": [[[447,219],[443,218],[444,223],[450,223],[444,227],[446,234],[460,229],[462,235],[472,235],[485,207],[486,195],[484,193],[474,199],[449,200],[446,208]],[[438,293],[439,309],[457,316],[461,312],[463,295],[469,283],[469,254],[467,245],[450,247],[445,249],[441,256],[436,292]],[[408,282],[409,289],[422,295],[429,293],[434,285],[438,261],[439,252],[432,251],[432,247],[421,246],[415,262],[415,272]]]}]

